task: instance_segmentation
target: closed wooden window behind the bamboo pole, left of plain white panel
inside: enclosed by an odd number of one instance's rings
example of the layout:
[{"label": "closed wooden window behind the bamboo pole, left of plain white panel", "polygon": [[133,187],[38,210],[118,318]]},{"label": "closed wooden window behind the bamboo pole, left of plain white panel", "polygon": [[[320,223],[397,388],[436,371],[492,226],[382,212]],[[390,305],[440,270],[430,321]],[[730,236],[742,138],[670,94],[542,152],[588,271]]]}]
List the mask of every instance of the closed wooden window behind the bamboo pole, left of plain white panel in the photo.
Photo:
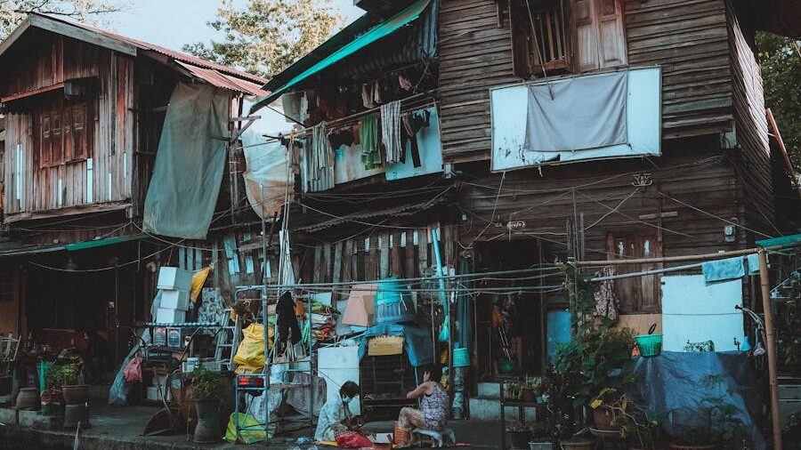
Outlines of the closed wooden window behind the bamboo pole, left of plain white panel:
[{"label": "closed wooden window behind the bamboo pole, left of plain white panel", "polygon": [[[661,244],[655,231],[614,232],[607,237],[611,259],[658,258],[662,255]],[[660,264],[623,264],[617,273],[638,272],[657,269]],[[659,275],[619,278],[615,280],[615,292],[623,313],[658,313]]]}]

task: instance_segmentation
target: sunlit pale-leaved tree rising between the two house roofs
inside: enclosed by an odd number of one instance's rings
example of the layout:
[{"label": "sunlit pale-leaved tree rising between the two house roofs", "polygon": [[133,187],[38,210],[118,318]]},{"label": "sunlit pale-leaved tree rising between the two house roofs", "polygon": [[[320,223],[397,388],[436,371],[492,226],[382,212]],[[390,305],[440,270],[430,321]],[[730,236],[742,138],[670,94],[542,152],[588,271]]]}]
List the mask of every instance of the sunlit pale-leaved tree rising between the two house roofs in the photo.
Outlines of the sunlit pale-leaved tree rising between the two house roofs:
[{"label": "sunlit pale-leaved tree rising between the two house roofs", "polygon": [[244,10],[223,0],[208,26],[223,40],[183,46],[200,58],[270,78],[311,52],[342,24],[330,0],[250,0]]}]

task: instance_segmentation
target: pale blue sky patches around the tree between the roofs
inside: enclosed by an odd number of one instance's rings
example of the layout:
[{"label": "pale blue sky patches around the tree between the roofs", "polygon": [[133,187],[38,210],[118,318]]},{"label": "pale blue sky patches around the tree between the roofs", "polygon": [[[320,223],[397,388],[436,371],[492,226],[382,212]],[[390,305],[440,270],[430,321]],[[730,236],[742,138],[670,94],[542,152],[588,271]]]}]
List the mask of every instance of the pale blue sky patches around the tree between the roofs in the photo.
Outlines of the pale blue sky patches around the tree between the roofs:
[{"label": "pale blue sky patches around the tree between the roofs", "polygon": [[[214,19],[221,0],[131,0],[130,11],[117,12],[110,19],[111,28],[124,36],[172,50],[183,44],[208,41],[214,30],[206,22]],[[244,7],[247,0],[235,0]],[[353,0],[333,0],[346,23],[356,20],[363,11],[353,6]]]}]

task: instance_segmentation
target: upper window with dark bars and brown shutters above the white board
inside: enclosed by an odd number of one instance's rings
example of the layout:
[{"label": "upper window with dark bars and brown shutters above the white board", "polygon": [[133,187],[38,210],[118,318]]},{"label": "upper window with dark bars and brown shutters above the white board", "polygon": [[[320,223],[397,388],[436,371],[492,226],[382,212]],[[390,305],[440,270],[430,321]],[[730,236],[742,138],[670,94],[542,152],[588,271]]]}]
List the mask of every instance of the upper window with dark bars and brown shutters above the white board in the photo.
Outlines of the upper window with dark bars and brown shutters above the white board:
[{"label": "upper window with dark bars and brown shutters above the white board", "polygon": [[627,64],[622,0],[510,0],[514,75]]}]

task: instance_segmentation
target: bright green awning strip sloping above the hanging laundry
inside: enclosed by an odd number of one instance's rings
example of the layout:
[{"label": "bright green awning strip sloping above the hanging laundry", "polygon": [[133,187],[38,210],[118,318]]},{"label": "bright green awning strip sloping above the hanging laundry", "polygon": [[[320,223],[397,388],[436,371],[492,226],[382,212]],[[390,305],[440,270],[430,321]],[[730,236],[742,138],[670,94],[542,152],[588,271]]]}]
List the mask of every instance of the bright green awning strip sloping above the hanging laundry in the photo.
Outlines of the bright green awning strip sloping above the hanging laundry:
[{"label": "bright green awning strip sloping above the hanging laundry", "polygon": [[319,73],[321,70],[336,64],[336,62],[340,60],[344,60],[344,58],[351,56],[353,53],[359,52],[362,48],[368,46],[369,44],[373,44],[386,36],[390,36],[401,27],[408,25],[414,20],[417,20],[417,18],[420,17],[420,14],[425,11],[425,7],[428,6],[430,1],[431,0],[419,0],[417,3],[410,5],[405,10],[395,14],[391,19],[384,21],[376,28],[373,28],[367,33],[357,37],[356,39],[353,39],[349,44],[344,45],[336,52],[328,55],[327,58],[320,60],[320,62],[313,65],[311,68],[308,68],[300,75],[295,76],[289,80],[287,84],[284,84],[275,91],[271,92],[267,97],[256,101],[253,107],[250,108],[250,114],[253,114],[255,111],[263,108],[266,105],[269,105],[274,100],[278,99],[282,93],[287,92],[287,90],[295,86],[295,84],[299,84],[309,76]]}]

